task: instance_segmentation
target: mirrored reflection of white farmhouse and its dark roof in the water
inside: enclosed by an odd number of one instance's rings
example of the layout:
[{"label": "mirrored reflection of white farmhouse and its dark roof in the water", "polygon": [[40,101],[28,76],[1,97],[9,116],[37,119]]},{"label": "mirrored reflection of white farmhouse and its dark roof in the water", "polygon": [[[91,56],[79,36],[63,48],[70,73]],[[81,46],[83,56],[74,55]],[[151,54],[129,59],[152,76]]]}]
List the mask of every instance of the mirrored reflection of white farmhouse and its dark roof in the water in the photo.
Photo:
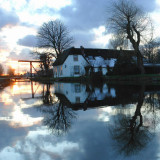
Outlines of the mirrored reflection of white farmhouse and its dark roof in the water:
[{"label": "mirrored reflection of white farmhouse and its dark roof in the water", "polygon": [[73,110],[134,103],[137,102],[139,89],[139,86],[115,86],[106,83],[93,86],[56,82],[54,87],[58,99],[65,99]]}]

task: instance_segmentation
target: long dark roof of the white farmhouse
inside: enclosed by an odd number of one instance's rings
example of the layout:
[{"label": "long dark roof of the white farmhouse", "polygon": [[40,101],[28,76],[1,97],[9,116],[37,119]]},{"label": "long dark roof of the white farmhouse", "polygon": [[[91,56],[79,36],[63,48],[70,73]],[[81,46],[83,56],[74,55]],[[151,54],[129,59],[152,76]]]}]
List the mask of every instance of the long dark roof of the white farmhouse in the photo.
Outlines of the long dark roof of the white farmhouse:
[{"label": "long dark roof of the white farmhouse", "polygon": [[134,55],[133,50],[114,50],[114,49],[93,49],[93,48],[69,48],[62,54],[58,55],[53,66],[62,65],[69,55],[82,55],[85,59],[89,56],[97,57],[101,56],[104,59],[118,58],[120,53],[128,53]]}]

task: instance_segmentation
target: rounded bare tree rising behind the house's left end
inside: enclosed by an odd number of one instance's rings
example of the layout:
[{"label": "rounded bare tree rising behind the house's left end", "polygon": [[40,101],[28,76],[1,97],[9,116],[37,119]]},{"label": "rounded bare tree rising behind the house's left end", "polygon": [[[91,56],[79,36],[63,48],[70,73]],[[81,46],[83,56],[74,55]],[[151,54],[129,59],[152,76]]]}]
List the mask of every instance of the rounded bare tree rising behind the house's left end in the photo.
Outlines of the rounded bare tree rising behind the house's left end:
[{"label": "rounded bare tree rising behind the house's left end", "polygon": [[60,21],[43,23],[38,31],[38,46],[47,48],[55,58],[70,47],[73,38],[69,36],[68,28]]}]

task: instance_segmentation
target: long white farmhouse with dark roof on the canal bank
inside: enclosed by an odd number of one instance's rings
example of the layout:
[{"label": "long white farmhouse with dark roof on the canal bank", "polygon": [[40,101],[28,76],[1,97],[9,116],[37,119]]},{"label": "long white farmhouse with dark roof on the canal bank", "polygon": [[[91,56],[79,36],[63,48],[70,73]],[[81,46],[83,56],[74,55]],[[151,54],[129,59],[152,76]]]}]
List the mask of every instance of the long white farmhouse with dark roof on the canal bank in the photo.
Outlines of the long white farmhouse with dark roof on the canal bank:
[{"label": "long white farmhouse with dark roof on the canal bank", "polygon": [[130,50],[69,48],[59,55],[53,63],[54,77],[79,77],[86,74],[86,67],[94,72],[107,73],[107,67],[114,67],[118,55]]}]

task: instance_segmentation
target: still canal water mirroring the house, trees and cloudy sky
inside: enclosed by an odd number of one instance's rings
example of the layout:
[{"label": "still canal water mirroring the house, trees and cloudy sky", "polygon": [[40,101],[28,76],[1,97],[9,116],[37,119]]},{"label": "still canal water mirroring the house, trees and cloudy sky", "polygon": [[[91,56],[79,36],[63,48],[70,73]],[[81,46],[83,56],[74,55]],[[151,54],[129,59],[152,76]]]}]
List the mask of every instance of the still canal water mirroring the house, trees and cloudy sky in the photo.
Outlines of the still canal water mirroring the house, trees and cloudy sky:
[{"label": "still canal water mirroring the house, trees and cloudy sky", "polygon": [[17,82],[0,93],[0,159],[160,159],[160,86]]}]

